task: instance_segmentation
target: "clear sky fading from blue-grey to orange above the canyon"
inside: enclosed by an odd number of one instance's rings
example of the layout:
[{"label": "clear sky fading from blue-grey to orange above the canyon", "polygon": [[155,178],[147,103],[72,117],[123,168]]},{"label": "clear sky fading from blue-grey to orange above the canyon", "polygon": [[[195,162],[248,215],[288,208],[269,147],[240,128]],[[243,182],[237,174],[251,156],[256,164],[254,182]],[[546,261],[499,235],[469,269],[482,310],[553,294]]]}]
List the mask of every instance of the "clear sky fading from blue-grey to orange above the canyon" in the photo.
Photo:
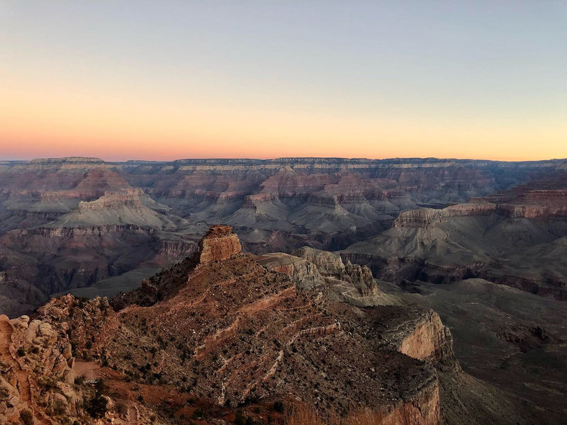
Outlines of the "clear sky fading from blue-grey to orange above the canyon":
[{"label": "clear sky fading from blue-grey to orange above the canyon", "polygon": [[0,0],[0,159],[567,157],[567,1]]}]

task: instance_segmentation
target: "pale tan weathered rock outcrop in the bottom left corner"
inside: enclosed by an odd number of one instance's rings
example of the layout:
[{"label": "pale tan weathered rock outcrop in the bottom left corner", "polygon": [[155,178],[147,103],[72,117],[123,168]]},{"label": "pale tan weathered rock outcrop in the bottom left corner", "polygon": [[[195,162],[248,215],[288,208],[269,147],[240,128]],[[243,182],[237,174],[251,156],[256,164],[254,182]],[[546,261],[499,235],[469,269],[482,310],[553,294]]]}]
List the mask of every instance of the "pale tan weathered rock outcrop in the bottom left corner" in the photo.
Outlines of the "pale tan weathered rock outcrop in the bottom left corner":
[{"label": "pale tan weathered rock outcrop in the bottom left corner", "polygon": [[77,419],[82,392],[69,339],[28,316],[0,315],[0,423],[60,424]]}]

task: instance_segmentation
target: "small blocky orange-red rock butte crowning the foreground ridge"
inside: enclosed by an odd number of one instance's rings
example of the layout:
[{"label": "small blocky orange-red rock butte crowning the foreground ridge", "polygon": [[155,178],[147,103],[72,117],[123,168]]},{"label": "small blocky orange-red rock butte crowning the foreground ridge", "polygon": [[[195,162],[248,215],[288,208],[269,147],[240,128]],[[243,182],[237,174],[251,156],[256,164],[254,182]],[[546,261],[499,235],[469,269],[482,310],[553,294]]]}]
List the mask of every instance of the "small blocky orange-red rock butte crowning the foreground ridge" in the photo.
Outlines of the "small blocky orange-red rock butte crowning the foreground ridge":
[{"label": "small blocky orange-red rock butte crowning the foreground ridge", "polygon": [[199,241],[198,259],[201,264],[215,260],[222,261],[239,254],[240,251],[242,251],[240,239],[232,232],[232,227],[214,225]]}]

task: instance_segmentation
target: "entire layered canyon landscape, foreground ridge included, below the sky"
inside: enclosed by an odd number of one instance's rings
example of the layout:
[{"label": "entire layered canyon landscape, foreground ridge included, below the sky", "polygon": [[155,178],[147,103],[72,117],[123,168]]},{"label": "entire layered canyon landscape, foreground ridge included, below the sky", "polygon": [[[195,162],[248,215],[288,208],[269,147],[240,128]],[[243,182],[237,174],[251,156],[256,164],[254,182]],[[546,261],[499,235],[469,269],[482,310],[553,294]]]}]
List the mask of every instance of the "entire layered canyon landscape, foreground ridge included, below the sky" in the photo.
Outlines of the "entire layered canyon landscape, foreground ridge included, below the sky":
[{"label": "entire layered canyon landscape, foreground ridge included, below the sky", "polygon": [[118,424],[567,414],[566,160],[41,159],[0,185],[0,417],[91,421],[102,390],[64,375],[109,382]]}]

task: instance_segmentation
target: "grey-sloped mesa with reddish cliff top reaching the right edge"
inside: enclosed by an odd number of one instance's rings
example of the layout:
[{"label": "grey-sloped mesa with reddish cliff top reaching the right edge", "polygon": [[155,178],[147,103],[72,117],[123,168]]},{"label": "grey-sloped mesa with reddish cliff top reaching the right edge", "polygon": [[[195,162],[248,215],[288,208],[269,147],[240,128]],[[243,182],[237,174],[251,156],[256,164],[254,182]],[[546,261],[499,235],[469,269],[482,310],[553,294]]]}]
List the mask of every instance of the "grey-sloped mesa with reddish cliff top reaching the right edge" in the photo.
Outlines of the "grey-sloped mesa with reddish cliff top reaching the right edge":
[{"label": "grey-sloped mesa with reddish cliff top reaching the right edge", "polygon": [[561,212],[567,198],[554,191],[545,202],[531,192],[488,197],[505,203],[476,200],[401,212],[391,229],[349,246],[342,256],[397,283],[485,278],[567,300],[567,221]]}]

